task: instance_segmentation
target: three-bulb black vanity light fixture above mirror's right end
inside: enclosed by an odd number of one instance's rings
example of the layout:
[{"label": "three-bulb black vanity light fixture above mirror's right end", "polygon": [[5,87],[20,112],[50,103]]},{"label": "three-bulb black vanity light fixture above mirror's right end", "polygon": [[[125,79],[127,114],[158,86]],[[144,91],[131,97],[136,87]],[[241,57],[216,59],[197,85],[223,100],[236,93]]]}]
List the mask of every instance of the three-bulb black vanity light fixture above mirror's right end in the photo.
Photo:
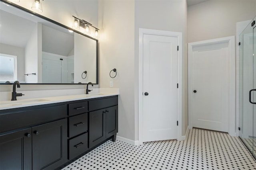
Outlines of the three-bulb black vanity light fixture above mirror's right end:
[{"label": "three-bulb black vanity light fixture above mirror's right end", "polygon": [[[79,18],[76,18],[75,16],[73,16],[73,17],[74,17],[73,28],[79,29],[80,27],[82,27],[85,29],[84,33],[90,35],[90,33],[91,33],[90,27],[94,27],[94,26],[92,26],[91,23],[89,23],[85,20],[80,20]],[[76,25],[76,27],[75,27],[75,25]],[[94,27],[94,28],[95,28],[95,35],[93,35],[93,36],[98,37],[98,33],[99,33],[100,29],[98,29],[96,27]]]}]

